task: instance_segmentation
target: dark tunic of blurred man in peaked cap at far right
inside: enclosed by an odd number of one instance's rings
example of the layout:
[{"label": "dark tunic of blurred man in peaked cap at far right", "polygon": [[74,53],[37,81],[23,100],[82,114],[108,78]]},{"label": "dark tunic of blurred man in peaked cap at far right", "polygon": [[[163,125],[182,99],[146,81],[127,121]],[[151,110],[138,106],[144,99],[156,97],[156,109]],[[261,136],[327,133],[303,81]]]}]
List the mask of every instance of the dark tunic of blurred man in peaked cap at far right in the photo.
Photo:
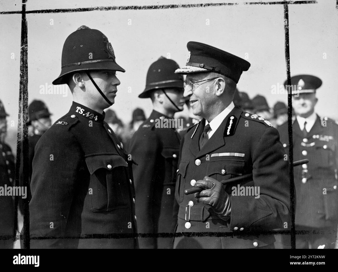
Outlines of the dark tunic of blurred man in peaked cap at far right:
[{"label": "dark tunic of blurred man in peaked cap at far right", "polygon": [[[300,228],[330,228],[333,233],[338,222],[338,125],[332,119],[317,116],[306,137],[297,120],[292,128],[293,160],[309,159],[307,165],[294,168],[295,224]],[[278,130],[288,154],[287,123]]]}]

